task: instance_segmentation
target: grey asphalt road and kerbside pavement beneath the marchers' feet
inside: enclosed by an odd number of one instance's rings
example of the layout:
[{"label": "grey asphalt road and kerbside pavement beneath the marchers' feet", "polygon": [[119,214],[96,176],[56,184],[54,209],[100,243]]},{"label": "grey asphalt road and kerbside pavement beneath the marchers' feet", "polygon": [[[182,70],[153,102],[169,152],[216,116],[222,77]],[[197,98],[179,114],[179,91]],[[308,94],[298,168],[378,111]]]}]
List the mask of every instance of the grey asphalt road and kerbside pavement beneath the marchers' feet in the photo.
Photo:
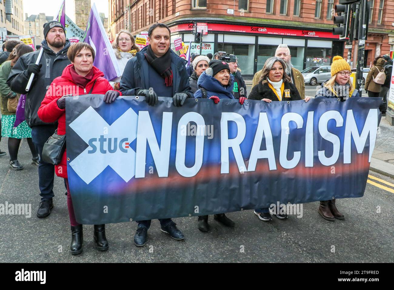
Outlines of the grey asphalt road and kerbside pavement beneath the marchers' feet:
[{"label": "grey asphalt road and kerbside pavement beneath the marchers' feet", "polygon": [[[84,225],[84,252],[77,256],[69,251],[63,179],[55,178],[52,213],[37,218],[37,166],[30,163],[28,144],[22,140],[18,159],[23,170],[8,167],[8,154],[0,157],[0,204],[30,204],[31,216],[0,215],[0,262],[394,262],[393,137],[394,127],[382,119],[364,196],[336,202],[344,220],[322,219],[318,202],[303,204],[301,218],[273,217],[271,222],[260,221],[252,210],[228,213],[234,228],[221,226],[210,216],[207,233],[197,229],[196,217],[176,218],[186,237],[182,241],[161,232],[153,220],[141,248],[133,243],[135,222],[109,224],[110,249],[105,252],[94,248],[93,226]],[[6,144],[7,138],[2,138],[3,151]]]}]

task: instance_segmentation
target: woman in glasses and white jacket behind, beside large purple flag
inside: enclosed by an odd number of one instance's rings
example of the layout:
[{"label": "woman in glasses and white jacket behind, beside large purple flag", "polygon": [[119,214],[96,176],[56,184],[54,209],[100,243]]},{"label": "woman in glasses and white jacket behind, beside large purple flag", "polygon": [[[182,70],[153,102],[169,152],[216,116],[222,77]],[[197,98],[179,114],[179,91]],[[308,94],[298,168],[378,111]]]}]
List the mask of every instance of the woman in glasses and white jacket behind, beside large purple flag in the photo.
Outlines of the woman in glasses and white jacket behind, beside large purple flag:
[{"label": "woman in glasses and white jacket behind, beside large purple flag", "polygon": [[110,81],[110,84],[115,90],[119,90],[119,82],[123,71],[125,70],[127,62],[130,58],[136,56],[139,52],[139,47],[134,43],[133,35],[127,30],[119,31],[118,35],[113,42],[113,52],[115,52],[116,59],[118,61],[119,69],[121,71],[121,76],[116,77]]}]

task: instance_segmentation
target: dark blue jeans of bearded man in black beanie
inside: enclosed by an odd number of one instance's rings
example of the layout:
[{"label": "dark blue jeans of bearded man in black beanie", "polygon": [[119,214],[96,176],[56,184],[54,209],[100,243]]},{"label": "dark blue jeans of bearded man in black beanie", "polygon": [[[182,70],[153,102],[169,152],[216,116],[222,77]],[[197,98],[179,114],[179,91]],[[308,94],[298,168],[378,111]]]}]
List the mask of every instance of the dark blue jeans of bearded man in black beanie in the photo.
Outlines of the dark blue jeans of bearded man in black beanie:
[{"label": "dark blue jeans of bearded man in black beanie", "polygon": [[39,155],[38,165],[38,183],[40,187],[41,200],[54,197],[53,181],[55,178],[55,166],[50,163],[43,162],[43,147],[50,136],[55,133],[57,125],[37,125],[32,127],[32,139],[35,150]]}]

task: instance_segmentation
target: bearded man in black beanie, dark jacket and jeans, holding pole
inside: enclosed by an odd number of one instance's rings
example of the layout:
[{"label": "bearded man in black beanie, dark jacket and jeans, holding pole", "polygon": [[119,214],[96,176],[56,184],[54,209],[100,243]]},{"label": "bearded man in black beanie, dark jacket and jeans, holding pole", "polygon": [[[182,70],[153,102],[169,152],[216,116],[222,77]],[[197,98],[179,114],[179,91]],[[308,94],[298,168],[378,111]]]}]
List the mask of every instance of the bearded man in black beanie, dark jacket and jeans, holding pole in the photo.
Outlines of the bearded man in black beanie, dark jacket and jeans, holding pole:
[{"label": "bearded man in black beanie, dark jacket and jeans, holding pole", "polygon": [[[26,94],[25,118],[32,128],[33,143],[39,153],[38,178],[41,202],[37,217],[47,217],[53,208],[55,169],[54,165],[42,161],[41,154],[46,140],[57,128],[57,123],[41,121],[37,111],[52,80],[61,76],[64,68],[70,64],[67,58],[70,41],[66,39],[64,26],[58,21],[47,22],[44,24],[44,36],[45,39],[41,42],[44,51],[39,64],[35,64],[39,51],[24,54],[14,65],[7,80],[13,92]],[[34,79],[29,92],[26,93],[25,89],[32,73]]]}]

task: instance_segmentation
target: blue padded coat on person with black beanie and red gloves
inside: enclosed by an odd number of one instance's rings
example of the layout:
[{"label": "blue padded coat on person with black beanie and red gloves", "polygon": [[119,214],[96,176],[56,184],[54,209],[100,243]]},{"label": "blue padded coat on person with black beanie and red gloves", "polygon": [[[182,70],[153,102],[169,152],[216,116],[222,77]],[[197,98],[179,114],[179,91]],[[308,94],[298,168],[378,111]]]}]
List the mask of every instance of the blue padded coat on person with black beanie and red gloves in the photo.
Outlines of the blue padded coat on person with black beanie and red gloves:
[{"label": "blue padded coat on person with black beanie and red gloves", "polygon": [[[230,75],[229,84],[223,86],[217,79],[207,75],[205,71],[200,75],[197,80],[197,85],[199,88],[204,88],[207,91],[207,98],[209,99],[213,95],[219,97],[219,99],[235,99],[232,94],[232,87],[234,85],[234,76]],[[197,90],[194,93],[195,98],[203,97],[201,90]]]}]

